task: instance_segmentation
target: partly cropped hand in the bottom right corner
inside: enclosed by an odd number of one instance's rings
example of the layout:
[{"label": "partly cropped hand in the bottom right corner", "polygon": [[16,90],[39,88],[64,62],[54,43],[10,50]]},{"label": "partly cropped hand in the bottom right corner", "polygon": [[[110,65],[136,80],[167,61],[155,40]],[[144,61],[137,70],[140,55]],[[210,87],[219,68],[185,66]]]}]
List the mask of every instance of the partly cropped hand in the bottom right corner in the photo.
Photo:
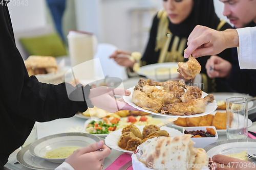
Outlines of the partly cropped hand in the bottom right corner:
[{"label": "partly cropped hand in the bottom right corner", "polygon": [[216,162],[217,168],[218,169],[237,169],[237,170],[252,170],[256,168],[255,163],[249,162],[249,161],[242,161],[237,158],[231,158],[225,155],[215,155],[212,157],[212,160]]}]

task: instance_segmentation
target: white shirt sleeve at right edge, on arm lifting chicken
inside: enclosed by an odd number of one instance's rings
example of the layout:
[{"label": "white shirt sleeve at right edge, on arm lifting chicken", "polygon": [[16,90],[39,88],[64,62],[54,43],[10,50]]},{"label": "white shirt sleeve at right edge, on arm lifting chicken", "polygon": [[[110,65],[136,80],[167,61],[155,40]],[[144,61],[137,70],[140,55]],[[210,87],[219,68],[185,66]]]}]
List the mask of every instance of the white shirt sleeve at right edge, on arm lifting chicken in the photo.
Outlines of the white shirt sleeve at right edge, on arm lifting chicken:
[{"label": "white shirt sleeve at right edge, on arm lifting chicken", "polygon": [[237,29],[240,69],[256,69],[256,27]]}]

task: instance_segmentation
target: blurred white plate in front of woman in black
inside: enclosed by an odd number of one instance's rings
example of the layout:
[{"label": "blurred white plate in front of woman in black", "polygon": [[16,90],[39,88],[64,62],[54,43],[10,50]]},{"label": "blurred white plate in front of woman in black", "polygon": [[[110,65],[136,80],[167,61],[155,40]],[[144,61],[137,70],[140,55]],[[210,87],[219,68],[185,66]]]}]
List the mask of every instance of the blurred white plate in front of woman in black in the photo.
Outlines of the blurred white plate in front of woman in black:
[{"label": "blurred white plate in front of woman in black", "polygon": [[[178,78],[179,76],[179,72],[177,70],[176,72],[169,74],[167,69],[172,67],[178,68],[178,64],[175,62],[148,64],[140,67],[140,69],[137,71],[137,74],[145,76],[147,79],[152,79],[154,81],[166,81],[169,79]],[[156,70],[159,68],[166,68],[166,71],[164,71],[162,74],[156,74]]]}]

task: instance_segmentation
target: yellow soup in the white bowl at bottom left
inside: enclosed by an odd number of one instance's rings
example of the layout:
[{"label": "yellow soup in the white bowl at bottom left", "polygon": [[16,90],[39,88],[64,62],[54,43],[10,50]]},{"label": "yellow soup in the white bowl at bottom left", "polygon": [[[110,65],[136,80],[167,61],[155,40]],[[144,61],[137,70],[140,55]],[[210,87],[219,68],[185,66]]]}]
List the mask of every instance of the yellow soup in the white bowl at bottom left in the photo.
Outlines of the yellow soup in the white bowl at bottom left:
[{"label": "yellow soup in the white bowl at bottom left", "polygon": [[49,151],[46,153],[45,158],[52,158],[52,159],[58,159],[58,158],[68,158],[71,154],[73,154],[74,151],[79,149],[80,147],[61,147],[57,148],[55,150]]}]

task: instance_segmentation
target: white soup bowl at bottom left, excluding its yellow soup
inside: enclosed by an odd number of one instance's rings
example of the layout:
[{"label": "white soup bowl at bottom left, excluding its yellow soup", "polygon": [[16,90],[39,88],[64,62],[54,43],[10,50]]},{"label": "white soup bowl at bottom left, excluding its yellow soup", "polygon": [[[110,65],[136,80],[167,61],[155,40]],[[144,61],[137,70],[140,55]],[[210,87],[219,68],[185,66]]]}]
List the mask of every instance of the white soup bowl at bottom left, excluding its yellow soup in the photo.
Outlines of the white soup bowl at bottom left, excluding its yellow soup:
[{"label": "white soup bowl at bottom left, excluding its yellow soup", "polygon": [[66,158],[52,159],[45,158],[47,152],[61,147],[87,147],[90,144],[100,141],[100,139],[88,133],[60,133],[46,136],[31,143],[29,151],[34,156],[54,163],[62,163]]}]

